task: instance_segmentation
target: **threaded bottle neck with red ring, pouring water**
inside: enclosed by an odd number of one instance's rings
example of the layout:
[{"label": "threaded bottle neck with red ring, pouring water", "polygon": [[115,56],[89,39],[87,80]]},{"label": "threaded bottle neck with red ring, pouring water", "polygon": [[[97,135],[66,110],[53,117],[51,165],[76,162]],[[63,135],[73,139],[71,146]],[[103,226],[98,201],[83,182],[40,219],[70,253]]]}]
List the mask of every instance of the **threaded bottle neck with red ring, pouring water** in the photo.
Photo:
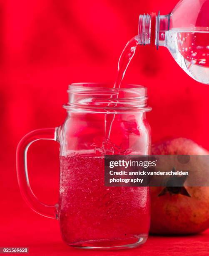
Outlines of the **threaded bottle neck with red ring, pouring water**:
[{"label": "threaded bottle neck with red ring, pouring water", "polygon": [[155,45],[158,49],[159,46],[165,45],[165,33],[169,30],[170,14],[156,15],[139,15],[139,44]]}]

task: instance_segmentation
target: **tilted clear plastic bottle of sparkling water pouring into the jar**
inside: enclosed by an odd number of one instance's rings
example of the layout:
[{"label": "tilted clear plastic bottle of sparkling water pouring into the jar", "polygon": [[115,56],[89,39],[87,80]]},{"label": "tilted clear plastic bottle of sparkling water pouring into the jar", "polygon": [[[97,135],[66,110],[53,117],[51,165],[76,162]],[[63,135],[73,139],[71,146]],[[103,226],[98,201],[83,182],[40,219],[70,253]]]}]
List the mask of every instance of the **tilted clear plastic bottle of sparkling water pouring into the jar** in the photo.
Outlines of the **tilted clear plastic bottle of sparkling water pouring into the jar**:
[{"label": "tilted clear plastic bottle of sparkling water pouring into the jar", "polygon": [[182,0],[168,15],[140,15],[140,44],[167,47],[190,77],[209,84],[208,13],[209,0]]}]

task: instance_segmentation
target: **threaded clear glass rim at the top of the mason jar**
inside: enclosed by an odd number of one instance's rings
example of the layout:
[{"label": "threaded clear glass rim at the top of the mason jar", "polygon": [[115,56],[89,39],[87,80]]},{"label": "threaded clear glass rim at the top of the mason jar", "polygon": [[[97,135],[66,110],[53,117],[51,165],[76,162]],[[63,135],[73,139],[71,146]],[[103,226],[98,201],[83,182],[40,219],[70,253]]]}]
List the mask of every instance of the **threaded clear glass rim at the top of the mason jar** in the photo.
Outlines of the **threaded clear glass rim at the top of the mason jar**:
[{"label": "threaded clear glass rim at the top of the mason jar", "polygon": [[[127,84],[114,88],[110,83],[72,83],[68,86],[68,103],[63,107],[70,112],[147,112],[147,87]],[[122,112],[121,112],[122,111]]]}]

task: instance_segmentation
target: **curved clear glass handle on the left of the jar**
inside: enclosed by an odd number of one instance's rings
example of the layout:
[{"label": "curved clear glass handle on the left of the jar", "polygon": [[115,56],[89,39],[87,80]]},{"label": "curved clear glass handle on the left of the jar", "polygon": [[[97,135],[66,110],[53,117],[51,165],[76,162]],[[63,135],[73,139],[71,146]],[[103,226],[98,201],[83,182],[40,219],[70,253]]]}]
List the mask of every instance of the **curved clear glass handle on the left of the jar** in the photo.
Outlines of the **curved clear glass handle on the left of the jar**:
[{"label": "curved clear glass handle on the left of the jar", "polygon": [[28,172],[27,172],[27,150],[30,145],[39,140],[53,140],[57,141],[58,128],[38,129],[27,133],[19,142],[16,153],[17,164],[17,179],[20,187],[22,197],[32,210],[42,216],[48,218],[55,218],[56,205],[45,205],[40,202],[33,194],[30,187]]}]

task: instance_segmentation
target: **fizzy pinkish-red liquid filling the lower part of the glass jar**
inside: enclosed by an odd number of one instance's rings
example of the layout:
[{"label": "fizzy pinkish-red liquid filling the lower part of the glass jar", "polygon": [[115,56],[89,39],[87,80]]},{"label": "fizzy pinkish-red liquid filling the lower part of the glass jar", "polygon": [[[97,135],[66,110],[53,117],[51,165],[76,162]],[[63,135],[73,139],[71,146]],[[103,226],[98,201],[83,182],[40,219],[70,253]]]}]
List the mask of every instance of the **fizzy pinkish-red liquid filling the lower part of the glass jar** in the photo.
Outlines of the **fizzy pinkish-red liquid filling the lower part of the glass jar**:
[{"label": "fizzy pinkish-red liquid filling the lower part of the glass jar", "polygon": [[75,246],[137,243],[149,231],[149,188],[105,187],[104,156],[61,156],[60,228]]}]

